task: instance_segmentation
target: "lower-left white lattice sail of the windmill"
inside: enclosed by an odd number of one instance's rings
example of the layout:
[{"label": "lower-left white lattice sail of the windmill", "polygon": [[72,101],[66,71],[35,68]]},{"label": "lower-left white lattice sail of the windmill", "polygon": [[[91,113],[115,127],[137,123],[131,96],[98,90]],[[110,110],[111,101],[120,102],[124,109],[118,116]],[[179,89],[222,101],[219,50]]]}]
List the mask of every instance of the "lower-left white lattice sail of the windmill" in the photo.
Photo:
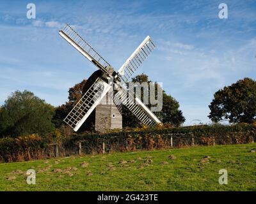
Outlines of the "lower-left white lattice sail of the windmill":
[{"label": "lower-left white lattice sail of the windmill", "polygon": [[111,87],[111,85],[103,82],[100,78],[97,78],[74,108],[68,113],[64,122],[74,129],[74,131],[77,131],[92,113],[94,108],[99,105],[102,98],[106,96]]}]

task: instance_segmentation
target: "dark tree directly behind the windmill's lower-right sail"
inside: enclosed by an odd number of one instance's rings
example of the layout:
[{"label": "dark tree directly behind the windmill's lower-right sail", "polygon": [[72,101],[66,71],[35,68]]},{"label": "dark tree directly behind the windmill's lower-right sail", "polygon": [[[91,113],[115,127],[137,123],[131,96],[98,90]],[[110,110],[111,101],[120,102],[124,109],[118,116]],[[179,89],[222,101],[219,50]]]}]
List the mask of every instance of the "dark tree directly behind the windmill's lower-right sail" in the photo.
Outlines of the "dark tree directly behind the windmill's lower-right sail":
[{"label": "dark tree directly behind the windmill's lower-right sail", "polygon": [[[147,84],[152,83],[150,80],[148,80],[148,76],[145,74],[141,74],[132,78],[132,82],[133,83],[138,82],[140,84],[142,84],[143,82],[147,82]],[[154,83],[154,85],[155,85],[155,96],[157,96],[157,87],[161,91],[163,91],[163,89],[161,89],[159,84],[157,84],[156,82]],[[136,92],[135,89],[134,89],[134,92]],[[147,94],[149,96],[149,90],[143,91],[143,88],[141,87],[141,99],[143,99],[144,94]],[[150,104],[150,101],[148,102],[149,104],[147,106],[148,108],[151,108],[152,104]],[[181,110],[179,110],[179,102],[172,96],[166,94],[165,91],[163,91],[163,108],[161,111],[155,112],[155,114],[157,115],[157,117],[159,117],[159,119],[163,123],[169,123],[169,124],[172,124],[173,126],[180,126],[180,124],[185,122],[185,118],[182,115]],[[136,117],[134,117],[134,115],[132,115],[132,113],[129,110],[127,110],[125,106],[123,106],[122,115],[123,115],[124,127],[140,126],[140,121],[136,119]]]}]

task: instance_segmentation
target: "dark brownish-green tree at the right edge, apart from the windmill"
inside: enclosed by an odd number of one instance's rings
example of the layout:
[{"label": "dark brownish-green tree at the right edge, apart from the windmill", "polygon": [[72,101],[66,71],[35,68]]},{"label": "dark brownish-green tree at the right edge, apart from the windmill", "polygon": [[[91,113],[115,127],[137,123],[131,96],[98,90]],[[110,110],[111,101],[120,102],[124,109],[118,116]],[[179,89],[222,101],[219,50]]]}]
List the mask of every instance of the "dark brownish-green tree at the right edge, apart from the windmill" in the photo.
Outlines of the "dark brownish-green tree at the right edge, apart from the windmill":
[{"label": "dark brownish-green tree at the right edge, apart from the windmill", "polygon": [[256,120],[256,82],[243,78],[214,94],[209,118],[213,122],[228,120],[230,123],[252,123]]}]

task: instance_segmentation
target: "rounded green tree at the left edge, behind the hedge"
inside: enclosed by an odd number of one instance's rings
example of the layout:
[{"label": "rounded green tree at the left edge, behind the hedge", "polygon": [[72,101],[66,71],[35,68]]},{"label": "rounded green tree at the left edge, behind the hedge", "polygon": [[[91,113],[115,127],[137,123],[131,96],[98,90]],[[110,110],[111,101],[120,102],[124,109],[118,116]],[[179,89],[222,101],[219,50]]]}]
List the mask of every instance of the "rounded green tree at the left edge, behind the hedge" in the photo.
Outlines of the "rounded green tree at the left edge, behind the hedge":
[{"label": "rounded green tree at the left edge, behind the hedge", "polygon": [[54,107],[33,92],[15,91],[0,112],[0,136],[22,136],[37,133],[44,136],[54,130],[51,119]]}]

